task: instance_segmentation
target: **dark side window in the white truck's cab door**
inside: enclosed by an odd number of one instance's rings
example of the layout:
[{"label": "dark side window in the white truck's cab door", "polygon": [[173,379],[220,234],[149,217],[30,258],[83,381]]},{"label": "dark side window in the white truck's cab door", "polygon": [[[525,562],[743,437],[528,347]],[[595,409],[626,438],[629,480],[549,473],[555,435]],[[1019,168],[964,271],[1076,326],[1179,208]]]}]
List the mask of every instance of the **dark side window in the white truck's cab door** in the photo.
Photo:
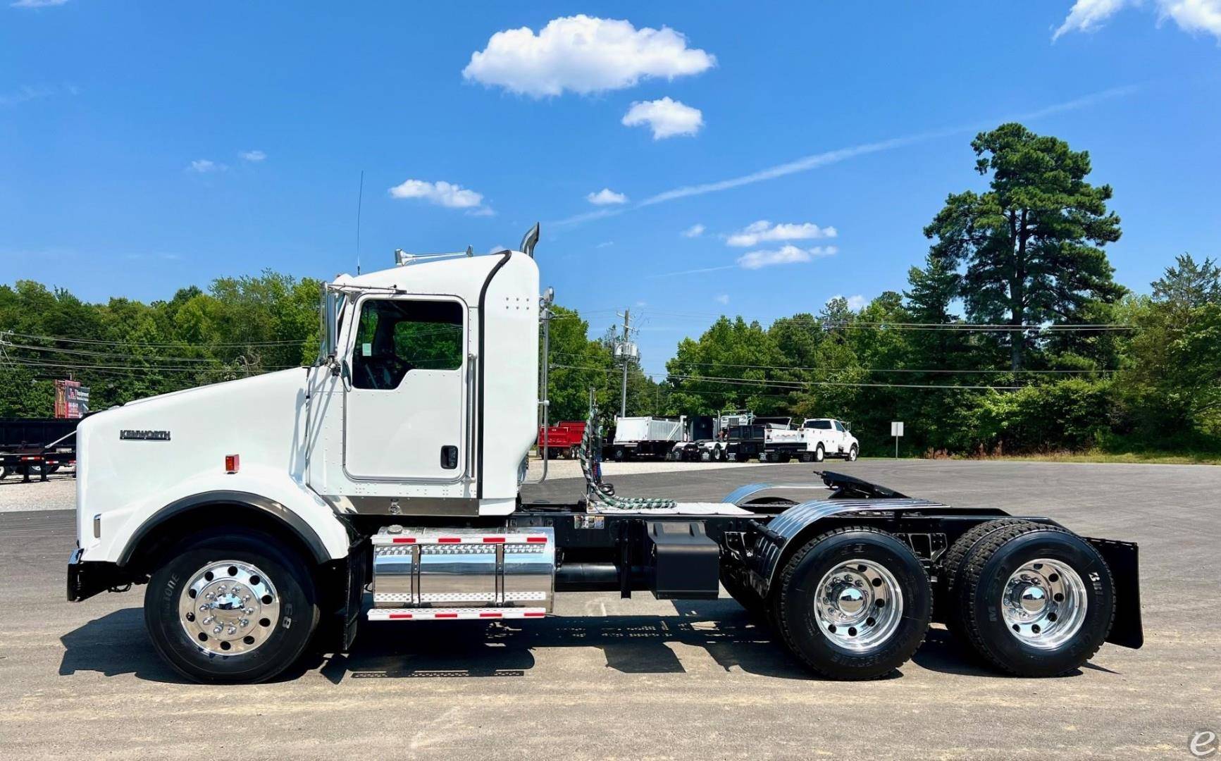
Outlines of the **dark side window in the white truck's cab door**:
[{"label": "dark side window in the white truck's cab door", "polygon": [[413,370],[457,370],[465,352],[455,302],[366,299],[352,357],[355,388],[397,388]]}]

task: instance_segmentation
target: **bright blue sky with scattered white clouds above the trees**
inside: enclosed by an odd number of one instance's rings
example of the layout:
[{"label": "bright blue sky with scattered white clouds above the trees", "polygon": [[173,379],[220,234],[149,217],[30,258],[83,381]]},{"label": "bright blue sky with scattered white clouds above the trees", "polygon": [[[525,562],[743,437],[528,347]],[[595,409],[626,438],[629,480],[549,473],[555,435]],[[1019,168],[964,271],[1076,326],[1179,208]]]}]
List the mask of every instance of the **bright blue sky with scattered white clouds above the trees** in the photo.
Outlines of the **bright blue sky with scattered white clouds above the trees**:
[{"label": "bright blue sky with scattered white clouds above the trees", "polygon": [[540,220],[545,285],[657,371],[716,314],[901,289],[1010,118],[1090,151],[1122,283],[1219,253],[1219,0],[9,1],[0,282],[353,271],[363,170],[366,270]]}]

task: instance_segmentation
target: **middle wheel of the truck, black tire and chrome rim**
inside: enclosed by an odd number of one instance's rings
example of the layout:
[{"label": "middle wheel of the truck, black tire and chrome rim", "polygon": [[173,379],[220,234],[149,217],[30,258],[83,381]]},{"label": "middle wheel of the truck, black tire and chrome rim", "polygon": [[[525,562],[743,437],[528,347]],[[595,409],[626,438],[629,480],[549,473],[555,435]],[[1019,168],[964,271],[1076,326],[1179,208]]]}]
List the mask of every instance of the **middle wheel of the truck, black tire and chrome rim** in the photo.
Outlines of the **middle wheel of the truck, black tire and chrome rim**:
[{"label": "middle wheel of the truck, black tire and chrome rim", "polygon": [[772,605],[785,644],[806,666],[833,679],[875,679],[924,641],[933,590],[905,542],[851,526],[797,550]]}]

